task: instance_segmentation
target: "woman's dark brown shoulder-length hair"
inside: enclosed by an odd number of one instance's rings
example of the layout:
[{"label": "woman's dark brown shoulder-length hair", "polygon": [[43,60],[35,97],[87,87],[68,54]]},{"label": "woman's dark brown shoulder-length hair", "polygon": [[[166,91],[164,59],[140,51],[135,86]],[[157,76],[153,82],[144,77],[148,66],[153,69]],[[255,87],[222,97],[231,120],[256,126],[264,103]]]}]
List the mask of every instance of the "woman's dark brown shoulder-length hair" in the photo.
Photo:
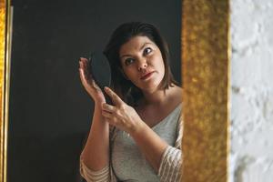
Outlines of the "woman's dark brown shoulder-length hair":
[{"label": "woman's dark brown shoulder-length hair", "polygon": [[111,66],[111,85],[116,94],[120,96],[127,104],[136,106],[137,101],[143,96],[141,90],[136,87],[130,80],[127,80],[122,73],[121,61],[119,59],[119,50],[121,45],[135,36],[147,36],[153,41],[161,51],[161,55],[165,67],[165,75],[160,83],[159,88],[167,89],[168,86],[176,84],[169,66],[169,52],[167,42],[159,34],[155,25],[130,22],[119,25],[111,35],[108,44],[104,50],[104,55],[107,57]]}]

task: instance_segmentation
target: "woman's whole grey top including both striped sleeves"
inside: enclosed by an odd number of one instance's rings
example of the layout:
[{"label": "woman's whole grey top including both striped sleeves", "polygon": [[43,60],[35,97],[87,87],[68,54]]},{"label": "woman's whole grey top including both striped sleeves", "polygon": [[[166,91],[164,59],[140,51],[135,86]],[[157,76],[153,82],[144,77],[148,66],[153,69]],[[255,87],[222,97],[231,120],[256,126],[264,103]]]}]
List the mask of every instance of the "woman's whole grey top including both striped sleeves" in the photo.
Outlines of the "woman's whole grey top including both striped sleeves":
[{"label": "woman's whole grey top including both striped sleeves", "polygon": [[94,171],[80,159],[80,172],[87,182],[178,182],[181,179],[182,151],[181,104],[152,129],[164,139],[168,147],[161,157],[158,173],[149,165],[135,141],[126,132],[110,132],[111,164]]}]

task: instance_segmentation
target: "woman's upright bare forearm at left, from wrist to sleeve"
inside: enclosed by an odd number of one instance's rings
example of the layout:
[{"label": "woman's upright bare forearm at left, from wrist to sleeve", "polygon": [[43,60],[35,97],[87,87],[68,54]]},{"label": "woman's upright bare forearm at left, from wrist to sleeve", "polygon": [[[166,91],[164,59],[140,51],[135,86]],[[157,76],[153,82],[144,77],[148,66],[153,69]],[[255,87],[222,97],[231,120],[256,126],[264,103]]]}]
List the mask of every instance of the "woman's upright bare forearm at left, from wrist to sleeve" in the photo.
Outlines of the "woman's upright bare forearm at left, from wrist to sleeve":
[{"label": "woman's upright bare forearm at left, from wrist to sleeve", "polygon": [[109,160],[109,124],[101,115],[101,107],[95,106],[92,126],[82,152],[82,159],[92,170],[106,167]]}]

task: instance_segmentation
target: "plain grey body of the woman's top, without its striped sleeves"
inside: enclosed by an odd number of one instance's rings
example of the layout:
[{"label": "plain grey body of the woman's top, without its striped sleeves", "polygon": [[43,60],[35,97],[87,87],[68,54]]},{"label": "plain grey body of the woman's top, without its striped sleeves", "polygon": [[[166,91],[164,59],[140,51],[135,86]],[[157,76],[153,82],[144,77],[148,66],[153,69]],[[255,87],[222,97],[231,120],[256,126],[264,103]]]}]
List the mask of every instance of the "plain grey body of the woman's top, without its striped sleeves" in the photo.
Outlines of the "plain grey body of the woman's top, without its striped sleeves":
[{"label": "plain grey body of the woman's top, without its striped sleeves", "polygon": [[[152,129],[167,142],[175,146],[180,105]],[[155,170],[148,164],[136,146],[134,139],[124,131],[117,131],[113,143],[112,165],[116,177],[121,181],[159,181]]]}]

